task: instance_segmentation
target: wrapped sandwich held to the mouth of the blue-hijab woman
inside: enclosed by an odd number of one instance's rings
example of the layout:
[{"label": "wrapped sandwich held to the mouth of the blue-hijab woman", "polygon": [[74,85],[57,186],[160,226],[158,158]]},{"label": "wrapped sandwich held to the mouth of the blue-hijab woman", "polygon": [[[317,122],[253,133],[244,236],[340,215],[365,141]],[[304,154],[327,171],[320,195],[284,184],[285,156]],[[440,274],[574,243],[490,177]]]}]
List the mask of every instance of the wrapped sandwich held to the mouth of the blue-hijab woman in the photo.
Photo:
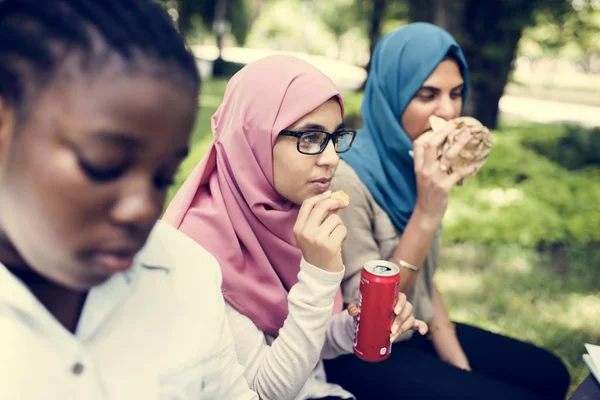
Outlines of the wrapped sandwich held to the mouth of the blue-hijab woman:
[{"label": "wrapped sandwich held to the mouth of the blue-hijab woman", "polygon": [[429,122],[434,132],[443,129],[448,123],[455,125],[455,129],[448,134],[448,137],[440,147],[438,154],[440,158],[459,139],[465,130],[471,132],[471,140],[458,153],[452,165],[448,166],[448,174],[469,165],[475,166],[474,173],[476,173],[484,166],[494,146],[494,137],[481,122],[472,117],[458,117],[450,121],[445,121],[442,118],[434,116],[430,117]]}]

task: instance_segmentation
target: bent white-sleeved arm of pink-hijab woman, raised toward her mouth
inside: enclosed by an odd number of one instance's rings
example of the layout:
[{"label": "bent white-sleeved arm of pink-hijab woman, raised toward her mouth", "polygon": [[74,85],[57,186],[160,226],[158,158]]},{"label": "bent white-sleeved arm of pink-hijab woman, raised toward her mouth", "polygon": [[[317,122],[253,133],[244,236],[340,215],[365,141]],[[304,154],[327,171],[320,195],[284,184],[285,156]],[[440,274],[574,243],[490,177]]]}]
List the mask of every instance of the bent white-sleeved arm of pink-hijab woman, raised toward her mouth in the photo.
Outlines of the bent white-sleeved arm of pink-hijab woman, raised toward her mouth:
[{"label": "bent white-sleeved arm of pink-hijab woman, raised toward her mouth", "polygon": [[240,363],[261,399],[294,399],[304,387],[319,362],[342,276],[303,260],[288,295],[288,317],[270,345],[248,317],[227,307]]}]

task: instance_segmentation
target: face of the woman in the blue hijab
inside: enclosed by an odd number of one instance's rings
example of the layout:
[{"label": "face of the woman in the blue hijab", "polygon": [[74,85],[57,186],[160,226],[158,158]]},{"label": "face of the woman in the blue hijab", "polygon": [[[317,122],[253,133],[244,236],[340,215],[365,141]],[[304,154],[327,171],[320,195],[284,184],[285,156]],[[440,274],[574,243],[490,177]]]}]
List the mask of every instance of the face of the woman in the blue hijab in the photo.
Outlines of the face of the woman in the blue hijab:
[{"label": "face of the woman in the blue hijab", "polygon": [[464,80],[456,61],[445,59],[429,75],[402,115],[402,128],[412,141],[431,129],[429,117],[449,120],[460,115]]}]

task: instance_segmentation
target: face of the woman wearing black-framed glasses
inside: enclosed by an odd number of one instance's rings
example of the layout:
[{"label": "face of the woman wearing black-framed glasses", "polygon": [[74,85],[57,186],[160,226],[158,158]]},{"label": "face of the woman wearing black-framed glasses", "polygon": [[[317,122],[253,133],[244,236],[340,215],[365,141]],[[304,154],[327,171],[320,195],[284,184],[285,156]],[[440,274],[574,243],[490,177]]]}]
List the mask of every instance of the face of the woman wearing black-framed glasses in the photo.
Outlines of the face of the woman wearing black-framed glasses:
[{"label": "face of the woman wearing black-framed glasses", "polygon": [[[323,130],[333,133],[343,127],[342,109],[336,99],[323,103],[287,130]],[[273,179],[277,192],[295,204],[329,190],[340,162],[333,141],[321,154],[306,155],[298,151],[298,139],[279,136],[273,147]]]}]

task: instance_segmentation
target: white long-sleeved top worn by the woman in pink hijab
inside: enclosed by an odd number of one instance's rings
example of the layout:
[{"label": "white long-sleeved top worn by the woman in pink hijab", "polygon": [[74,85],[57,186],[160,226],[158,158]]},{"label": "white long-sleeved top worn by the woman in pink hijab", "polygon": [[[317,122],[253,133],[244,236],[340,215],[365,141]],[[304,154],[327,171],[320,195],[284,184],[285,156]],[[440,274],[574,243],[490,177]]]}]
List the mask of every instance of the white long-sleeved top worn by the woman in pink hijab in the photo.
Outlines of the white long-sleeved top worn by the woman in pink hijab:
[{"label": "white long-sleeved top worn by the woman in pink hijab", "polygon": [[261,399],[353,398],[326,382],[320,361],[352,353],[352,317],[346,311],[332,316],[343,276],[343,271],[323,271],[302,260],[298,283],[288,295],[288,317],[277,338],[227,304],[238,359],[246,368],[250,388]]}]

